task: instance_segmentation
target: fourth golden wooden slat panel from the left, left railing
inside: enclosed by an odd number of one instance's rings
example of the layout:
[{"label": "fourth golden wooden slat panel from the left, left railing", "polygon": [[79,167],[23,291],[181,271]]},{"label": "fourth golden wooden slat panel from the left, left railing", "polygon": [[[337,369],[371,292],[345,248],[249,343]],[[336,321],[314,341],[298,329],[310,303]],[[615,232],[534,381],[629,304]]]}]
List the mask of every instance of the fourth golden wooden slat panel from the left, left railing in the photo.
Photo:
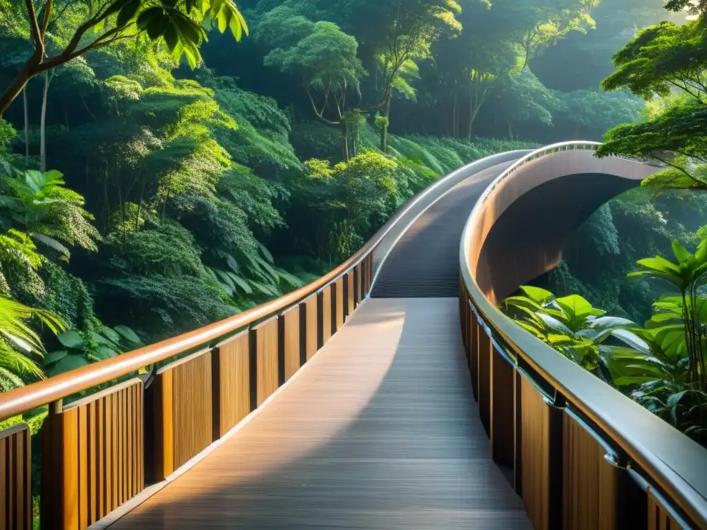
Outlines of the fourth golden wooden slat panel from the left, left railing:
[{"label": "fourth golden wooden slat panel from the left, left railing", "polygon": [[247,331],[220,344],[218,355],[220,430],[222,437],[250,413],[250,358]]}]

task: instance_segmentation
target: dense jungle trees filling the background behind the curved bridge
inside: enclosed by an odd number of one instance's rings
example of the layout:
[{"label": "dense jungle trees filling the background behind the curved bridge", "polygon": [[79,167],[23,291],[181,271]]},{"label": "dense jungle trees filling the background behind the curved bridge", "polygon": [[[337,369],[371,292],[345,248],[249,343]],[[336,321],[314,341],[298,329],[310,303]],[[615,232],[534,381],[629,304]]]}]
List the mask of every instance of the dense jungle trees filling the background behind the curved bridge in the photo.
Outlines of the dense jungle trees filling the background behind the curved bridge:
[{"label": "dense jungle trees filling the background behind the curved bridge", "polygon": [[671,169],[542,281],[648,318],[633,262],[707,235],[666,193],[705,185],[691,5],[0,0],[0,390],[308,283],[464,163],[609,130]]}]

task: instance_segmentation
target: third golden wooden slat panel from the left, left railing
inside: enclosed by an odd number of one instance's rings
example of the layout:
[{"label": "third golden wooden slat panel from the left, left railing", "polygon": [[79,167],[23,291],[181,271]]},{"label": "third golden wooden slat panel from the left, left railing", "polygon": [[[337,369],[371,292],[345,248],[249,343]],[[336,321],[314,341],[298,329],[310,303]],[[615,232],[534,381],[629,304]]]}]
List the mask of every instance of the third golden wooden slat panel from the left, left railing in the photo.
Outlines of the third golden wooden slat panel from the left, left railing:
[{"label": "third golden wooden slat panel from the left, left railing", "polygon": [[[154,413],[156,478],[162,480],[211,444],[211,351],[161,368],[154,386],[160,395]],[[124,418],[129,417],[127,405]],[[129,483],[128,476],[123,490]]]}]

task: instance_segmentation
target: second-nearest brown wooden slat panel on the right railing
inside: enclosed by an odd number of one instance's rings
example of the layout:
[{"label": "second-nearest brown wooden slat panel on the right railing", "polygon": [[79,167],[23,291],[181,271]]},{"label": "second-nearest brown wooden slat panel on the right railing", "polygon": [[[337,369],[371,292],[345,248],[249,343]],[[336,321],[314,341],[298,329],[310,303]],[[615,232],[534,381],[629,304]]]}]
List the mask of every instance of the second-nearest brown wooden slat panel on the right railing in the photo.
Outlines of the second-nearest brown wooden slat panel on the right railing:
[{"label": "second-nearest brown wooden slat panel on the right railing", "polygon": [[563,415],[563,521],[577,530],[619,529],[616,466],[606,449],[565,411]]}]

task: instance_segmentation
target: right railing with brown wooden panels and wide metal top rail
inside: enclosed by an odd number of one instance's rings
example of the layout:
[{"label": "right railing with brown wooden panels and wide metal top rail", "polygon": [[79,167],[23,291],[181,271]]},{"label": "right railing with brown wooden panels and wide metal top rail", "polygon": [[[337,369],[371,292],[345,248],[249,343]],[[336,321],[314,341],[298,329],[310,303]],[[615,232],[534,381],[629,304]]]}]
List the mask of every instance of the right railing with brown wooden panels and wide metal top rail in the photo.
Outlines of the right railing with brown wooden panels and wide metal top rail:
[{"label": "right railing with brown wooden panels and wide metal top rail", "polygon": [[475,279],[489,230],[481,227],[484,210],[499,185],[551,153],[596,146],[571,142],[530,153],[486,189],[469,216],[460,312],[481,419],[494,459],[515,470],[536,528],[707,529],[707,451],[514,324]]}]

